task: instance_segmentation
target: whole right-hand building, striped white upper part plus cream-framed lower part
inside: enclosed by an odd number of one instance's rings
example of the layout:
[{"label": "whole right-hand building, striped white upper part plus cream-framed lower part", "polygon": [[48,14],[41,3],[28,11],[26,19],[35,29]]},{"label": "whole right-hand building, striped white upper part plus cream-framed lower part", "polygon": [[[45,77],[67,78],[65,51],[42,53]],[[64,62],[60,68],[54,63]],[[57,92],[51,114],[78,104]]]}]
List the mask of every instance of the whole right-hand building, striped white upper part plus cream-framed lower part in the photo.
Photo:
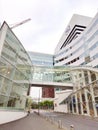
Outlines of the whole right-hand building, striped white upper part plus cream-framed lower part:
[{"label": "whole right-hand building, striped white upper part plus cream-framed lower part", "polygon": [[98,117],[98,13],[93,19],[73,15],[55,49],[54,65],[73,67],[73,91],[59,105],[66,104],[68,113]]}]

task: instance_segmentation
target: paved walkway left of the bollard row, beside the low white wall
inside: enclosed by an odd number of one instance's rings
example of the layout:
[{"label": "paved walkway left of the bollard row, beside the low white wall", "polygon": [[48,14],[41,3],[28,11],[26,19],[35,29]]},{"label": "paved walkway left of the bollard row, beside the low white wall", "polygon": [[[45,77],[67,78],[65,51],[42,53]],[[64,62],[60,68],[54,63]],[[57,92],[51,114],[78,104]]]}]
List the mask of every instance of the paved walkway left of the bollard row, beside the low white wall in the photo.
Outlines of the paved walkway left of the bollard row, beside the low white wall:
[{"label": "paved walkway left of the bollard row, beside the low white wall", "polygon": [[51,124],[44,118],[35,113],[29,116],[13,121],[11,123],[0,125],[0,130],[61,130],[56,125]]}]

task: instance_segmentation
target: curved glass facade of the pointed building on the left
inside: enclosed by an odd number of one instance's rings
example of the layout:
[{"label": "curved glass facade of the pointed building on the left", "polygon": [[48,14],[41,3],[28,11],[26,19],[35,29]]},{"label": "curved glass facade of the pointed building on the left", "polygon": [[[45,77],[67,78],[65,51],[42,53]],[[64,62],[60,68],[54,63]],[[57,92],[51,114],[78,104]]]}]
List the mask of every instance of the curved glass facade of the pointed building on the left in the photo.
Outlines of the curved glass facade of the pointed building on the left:
[{"label": "curved glass facade of the pointed building on the left", "polygon": [[32,63],[10,28],[5,33],[0,57],[0,107],[24,109],[29,88],[24,80],[29,82]]}]

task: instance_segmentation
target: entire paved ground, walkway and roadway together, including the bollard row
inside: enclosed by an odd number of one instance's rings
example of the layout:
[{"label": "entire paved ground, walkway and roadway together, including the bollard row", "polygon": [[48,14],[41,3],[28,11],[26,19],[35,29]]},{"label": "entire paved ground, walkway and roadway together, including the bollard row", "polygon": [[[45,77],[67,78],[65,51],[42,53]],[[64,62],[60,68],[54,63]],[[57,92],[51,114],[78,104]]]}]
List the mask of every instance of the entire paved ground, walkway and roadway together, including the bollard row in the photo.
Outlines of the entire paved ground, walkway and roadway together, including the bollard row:
[{"label": "entire paved ground, walkway and roadway together, including the bollard row", "polygon": [[34,110],[25,118],[0,125],[0,130],[98,130],[98,118]]}]

